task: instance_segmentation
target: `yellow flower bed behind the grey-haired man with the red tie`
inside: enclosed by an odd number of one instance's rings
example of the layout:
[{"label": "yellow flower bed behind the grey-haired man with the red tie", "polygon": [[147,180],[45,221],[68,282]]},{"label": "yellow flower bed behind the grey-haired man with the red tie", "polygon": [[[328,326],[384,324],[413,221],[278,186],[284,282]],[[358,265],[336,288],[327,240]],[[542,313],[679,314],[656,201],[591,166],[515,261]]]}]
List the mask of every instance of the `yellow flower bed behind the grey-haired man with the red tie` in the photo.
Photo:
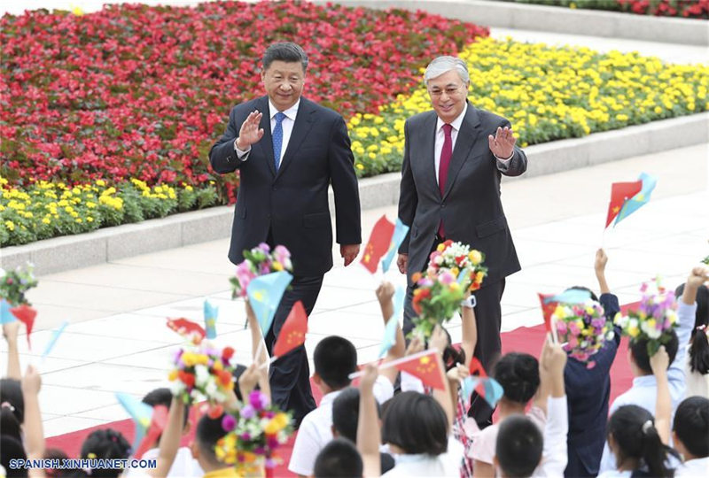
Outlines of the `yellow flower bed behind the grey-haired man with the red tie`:
[{"label": "yellow flower bed behind the grey-haired man with the red tie", "polygon": [[[522,147],[709,110],[707,65],[492,38],[460,57],[471,73],[471,103],[510,120]],[[430,109],[422,83],[378,116],[355,115],[348,127],[357,173],[398,171],[404,121]]]}]

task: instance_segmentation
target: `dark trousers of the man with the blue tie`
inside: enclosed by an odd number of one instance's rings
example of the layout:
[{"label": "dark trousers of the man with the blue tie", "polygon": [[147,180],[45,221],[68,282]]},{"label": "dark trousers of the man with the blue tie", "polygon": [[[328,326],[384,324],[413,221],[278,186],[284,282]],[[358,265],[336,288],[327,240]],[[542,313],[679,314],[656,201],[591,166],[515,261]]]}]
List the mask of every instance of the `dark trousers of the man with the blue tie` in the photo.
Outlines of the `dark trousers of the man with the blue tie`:
[{"label": "dark trousers of the man with the blue tie", "polygon": [[[291,288],[286,290],[276,311],[273,325],[265,337],[266,347],[271,355],[278,334],[297,301],[302,301],[308,316],[316,305],[323,276],[293,277]],[[310,367],[305,346],[288,352],[271,365],[269,372],[271,399],[282,410],[291,410],[293,420],[300,425],[300,420],[316,408],[316,401],[310,389]]]}]

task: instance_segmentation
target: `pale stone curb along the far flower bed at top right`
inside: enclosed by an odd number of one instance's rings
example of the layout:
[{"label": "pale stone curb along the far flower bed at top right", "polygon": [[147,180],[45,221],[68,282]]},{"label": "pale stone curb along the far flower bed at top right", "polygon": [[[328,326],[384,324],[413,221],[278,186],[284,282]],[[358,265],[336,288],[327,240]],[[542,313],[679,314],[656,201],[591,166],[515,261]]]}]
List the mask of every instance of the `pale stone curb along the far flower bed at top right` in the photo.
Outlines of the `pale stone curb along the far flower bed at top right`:
[{"label": "pale stone curb along the far flower bed at top right", "polygon": [[[311,0],[312,1],[312,0]],[[315,0],[316,4],[327,3]],[[514,4],[495,0],[337,0],[336,4],[423,10],[486,27],[709,46],[709,21]],[[703,61],[697,58],[697,61]]]}]

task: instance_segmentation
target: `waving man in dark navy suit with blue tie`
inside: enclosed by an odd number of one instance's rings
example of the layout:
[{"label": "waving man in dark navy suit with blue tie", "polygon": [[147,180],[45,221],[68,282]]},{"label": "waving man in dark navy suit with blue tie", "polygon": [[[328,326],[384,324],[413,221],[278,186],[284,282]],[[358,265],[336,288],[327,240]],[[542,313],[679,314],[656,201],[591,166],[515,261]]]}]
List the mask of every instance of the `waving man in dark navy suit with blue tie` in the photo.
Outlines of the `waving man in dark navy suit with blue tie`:
[{"label": "waving man in dark navy suit with blue tie", "polygon": [[[359,253],[360,202],[354,157],[342,117],[301,96],[308,67],[295,43],[275,43],[263,57],[267,96],[235,106],[229,126],[209,151],[217,173],[239,170],[240,182],[229,258],[259,243],[291,251],[292,289],[285,292],[266,335],[269,353],[292,305],[301,300],[308,315],[332,267],[328,186],[335,193],[337,242],[348,266]],[[273,364],[273,401],[292,410],[298,424],[316,406],[310,390],[305,347]]]}]

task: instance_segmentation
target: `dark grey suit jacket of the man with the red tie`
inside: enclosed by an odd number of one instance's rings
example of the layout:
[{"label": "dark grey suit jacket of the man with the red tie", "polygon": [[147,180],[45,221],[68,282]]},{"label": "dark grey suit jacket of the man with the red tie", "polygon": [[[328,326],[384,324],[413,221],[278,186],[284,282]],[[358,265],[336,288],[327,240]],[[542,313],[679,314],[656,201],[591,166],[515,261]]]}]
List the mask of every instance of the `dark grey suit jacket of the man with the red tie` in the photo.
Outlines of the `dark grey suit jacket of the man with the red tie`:
[{"label": "dark grey suit jacket of the man with the red tie", "polygon": [[399,219],[411,228],[399,251],[409,254],[409,284],[411,275],[428,263],[441,219],[449,239],[485,253],[488,276],[483,285],[499,281],[520,268],[500,201],[501,174],[524,173],[525,153],[515,147],[510,165],[501,171],[487,135],[494,135],[497,127],[510,127],[510,122],[469,103],[441,197],[433,161],[437,118],[435,112],[424,112],[409,118],[404,126]]}]

